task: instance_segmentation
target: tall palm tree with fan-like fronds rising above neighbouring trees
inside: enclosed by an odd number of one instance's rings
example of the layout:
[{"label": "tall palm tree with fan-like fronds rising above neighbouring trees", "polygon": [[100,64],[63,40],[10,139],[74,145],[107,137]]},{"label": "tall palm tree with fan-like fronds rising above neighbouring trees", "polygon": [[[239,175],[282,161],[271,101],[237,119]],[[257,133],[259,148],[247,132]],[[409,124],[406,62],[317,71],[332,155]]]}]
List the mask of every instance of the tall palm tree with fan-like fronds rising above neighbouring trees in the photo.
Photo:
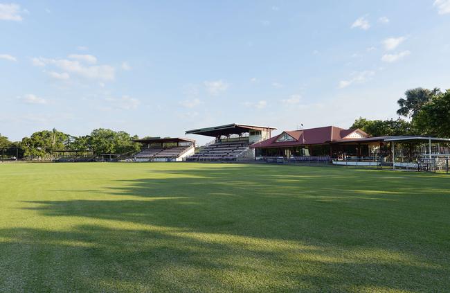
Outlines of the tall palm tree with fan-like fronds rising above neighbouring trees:
[{"label": "tall palm tree with fan-like fronds rising above neighbouring trees", "polygon": [[397,104],[400,108],[397,110],[397,114],[400,116],[414,118],[415,114],[419,112],[420,108],[427,103],[433,96],[442,94],[440,89],[435,87],[434,89],[423,89],[417,87],[415,89],[408,89],[405,91],[406,98],[400,98],[397,100]]}]

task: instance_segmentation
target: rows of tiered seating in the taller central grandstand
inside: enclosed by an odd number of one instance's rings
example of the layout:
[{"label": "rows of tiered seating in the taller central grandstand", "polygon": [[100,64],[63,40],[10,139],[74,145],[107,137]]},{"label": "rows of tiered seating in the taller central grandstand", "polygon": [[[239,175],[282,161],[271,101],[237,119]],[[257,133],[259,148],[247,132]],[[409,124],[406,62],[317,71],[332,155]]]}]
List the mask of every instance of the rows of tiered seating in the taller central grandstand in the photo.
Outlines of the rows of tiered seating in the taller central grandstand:
[{"label": "rows of tiered seating in the taller central grandstand", "polygon": [[248,141],[213,143],[189,157],[188,161],[235,161],[248,147]]}]

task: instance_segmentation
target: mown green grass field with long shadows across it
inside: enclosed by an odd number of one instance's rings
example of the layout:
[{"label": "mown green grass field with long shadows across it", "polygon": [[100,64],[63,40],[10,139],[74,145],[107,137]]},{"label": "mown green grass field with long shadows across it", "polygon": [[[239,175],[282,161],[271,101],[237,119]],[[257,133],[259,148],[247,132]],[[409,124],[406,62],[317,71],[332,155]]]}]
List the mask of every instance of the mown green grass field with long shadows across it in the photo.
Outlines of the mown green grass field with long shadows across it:
[{"label": "mown green grass field with long shadows across it", "polygon": [[0,165],[0,292],[449,292],[450,175]]}]

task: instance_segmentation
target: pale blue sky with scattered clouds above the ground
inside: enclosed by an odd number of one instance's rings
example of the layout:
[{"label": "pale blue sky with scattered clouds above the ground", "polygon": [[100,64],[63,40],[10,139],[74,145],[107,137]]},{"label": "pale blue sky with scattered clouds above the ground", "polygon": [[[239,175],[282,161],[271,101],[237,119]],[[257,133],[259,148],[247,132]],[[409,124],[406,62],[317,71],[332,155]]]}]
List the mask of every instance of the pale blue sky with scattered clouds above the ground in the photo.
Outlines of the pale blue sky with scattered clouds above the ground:
[{"label": "pale blue sky with scattered clouds above the ground", "polygon": [[0,0],[0,133],[395,118],[450,88],[449,32],[450,0]]}]

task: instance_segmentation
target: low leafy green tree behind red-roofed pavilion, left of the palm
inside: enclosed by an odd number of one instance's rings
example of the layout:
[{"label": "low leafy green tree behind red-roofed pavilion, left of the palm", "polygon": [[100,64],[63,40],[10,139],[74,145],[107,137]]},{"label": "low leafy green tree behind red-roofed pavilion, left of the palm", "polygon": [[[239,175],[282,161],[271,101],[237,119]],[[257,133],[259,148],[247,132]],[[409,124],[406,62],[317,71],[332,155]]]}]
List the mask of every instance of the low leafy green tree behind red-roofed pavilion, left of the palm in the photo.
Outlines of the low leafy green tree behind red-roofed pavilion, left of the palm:
[{"label": "low leafy green tree behind red-roofed pavilion, left of the palm", "polygon": [[415,129],[413,125],[399,118],[397,120],[367,120],[359,117],[356,119],[351,129],[361,129],[370,136],[399,136],[399,135],[413,135]]}]

